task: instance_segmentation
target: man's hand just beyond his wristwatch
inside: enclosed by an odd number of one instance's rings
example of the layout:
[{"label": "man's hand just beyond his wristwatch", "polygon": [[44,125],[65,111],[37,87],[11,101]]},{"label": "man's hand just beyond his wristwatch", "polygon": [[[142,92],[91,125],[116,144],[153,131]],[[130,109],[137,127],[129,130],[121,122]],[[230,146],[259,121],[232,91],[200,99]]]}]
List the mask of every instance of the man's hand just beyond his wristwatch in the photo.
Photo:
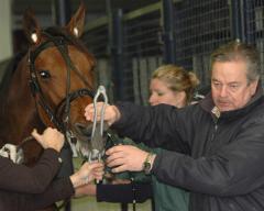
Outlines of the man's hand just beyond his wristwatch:
[{"label": "man's hand just beyond his wristwatch", "polygon": [[121,173],[141,171],[148,153],[132,145],[118,145],[109,148],[106,154],[109,155],[107,165],[113,167],[113,173]]}]

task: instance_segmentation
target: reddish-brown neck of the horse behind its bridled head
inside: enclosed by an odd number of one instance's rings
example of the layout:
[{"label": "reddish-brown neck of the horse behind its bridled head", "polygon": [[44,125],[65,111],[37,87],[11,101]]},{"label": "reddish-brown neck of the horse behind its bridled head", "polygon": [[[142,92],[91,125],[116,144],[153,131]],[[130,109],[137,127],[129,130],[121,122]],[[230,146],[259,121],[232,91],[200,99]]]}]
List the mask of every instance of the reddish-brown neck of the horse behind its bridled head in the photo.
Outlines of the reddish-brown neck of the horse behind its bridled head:
[{"label": "reddish-brown neck of the horse behind its bridled head", "polygon": [[[23,67],[19,67],[23,68]],[[19,144],[31,134],[33,127],[41,129],[35,102],[31,95],[26,69],[16,69],[7,96],[0,102],[0,146]],[[24,73],[23,73],[24,71]]]}]

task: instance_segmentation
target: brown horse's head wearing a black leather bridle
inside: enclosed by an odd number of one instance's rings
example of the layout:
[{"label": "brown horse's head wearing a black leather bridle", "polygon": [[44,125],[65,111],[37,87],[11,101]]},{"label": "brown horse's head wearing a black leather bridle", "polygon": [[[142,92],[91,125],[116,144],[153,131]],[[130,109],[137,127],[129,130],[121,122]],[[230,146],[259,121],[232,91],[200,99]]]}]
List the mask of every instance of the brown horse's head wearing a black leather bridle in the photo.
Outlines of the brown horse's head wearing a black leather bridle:
[{"label": "brown horse's head wearing a black leather bridle", "polygon": [[92,148],[92,124],[85,120],[84,112],[94,98],[95,58],[78,40],[84,22],[84,4],[62,29],[44,31],[32,12],[24,15],[30,41],[29,80],[38,115],[45,125],[58,127],[76,140],[78,148],[87,154]]}]

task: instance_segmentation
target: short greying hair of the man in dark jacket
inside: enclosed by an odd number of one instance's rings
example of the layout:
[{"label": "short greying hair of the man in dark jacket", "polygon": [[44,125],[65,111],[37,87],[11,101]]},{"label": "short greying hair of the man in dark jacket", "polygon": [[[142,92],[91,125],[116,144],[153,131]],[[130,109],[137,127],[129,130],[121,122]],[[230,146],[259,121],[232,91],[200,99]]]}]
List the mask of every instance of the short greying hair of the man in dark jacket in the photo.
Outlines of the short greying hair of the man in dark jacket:
[{"label": "short greying hair of the man in dark jacket", "polygon": [[246,64],[246,78],[249,82],[257,80],[261,76],[260,53],[250,44],[240,41],[230,42],[220,46],[211,54],[211,69],[216,62],[243,60]]}]

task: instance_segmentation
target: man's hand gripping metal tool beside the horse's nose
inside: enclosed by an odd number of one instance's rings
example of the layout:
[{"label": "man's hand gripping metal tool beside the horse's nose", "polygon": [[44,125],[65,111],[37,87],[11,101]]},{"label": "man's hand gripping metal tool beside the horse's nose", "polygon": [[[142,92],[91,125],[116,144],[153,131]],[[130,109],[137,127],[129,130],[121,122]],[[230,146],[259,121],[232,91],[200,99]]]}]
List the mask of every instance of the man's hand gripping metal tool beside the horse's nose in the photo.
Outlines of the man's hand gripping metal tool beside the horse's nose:
[{"label": "man's hand gripping metal tool beside the horse's nose", "polygon": [[[95,111],[97,110],[97,116],[96,120],[101,120],[101,110],[103,109],[103,102],[98,102],[96,104],[96,108],[94,107],[94,103],[88,104],[85,108],[85,116],[87,121],[94,122],[94,115]],[[108,123],[110,126],[114,122],[117,122],[120,119],[120,112],[116,106],[106,104],[105,106],[105,113],[103,113],[103,120]]]}]

